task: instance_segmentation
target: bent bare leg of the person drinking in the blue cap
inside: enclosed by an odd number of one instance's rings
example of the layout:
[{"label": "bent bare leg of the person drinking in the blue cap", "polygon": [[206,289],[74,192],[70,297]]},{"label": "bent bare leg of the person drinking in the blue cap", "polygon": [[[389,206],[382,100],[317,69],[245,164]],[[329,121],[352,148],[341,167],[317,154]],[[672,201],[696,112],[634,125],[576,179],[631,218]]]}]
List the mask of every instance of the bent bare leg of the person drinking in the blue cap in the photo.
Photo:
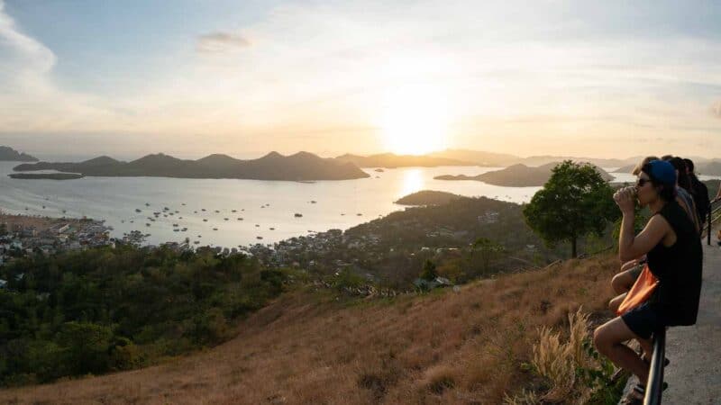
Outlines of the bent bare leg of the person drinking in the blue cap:
[{"label": "bent bare leg of the person drinking in the blue cap", "polygon": [[638,338],[620,317],[607,321],[593,333],[593,343],[599,353],[607,356],[615,365],[635,374],[639,381],[645,384],[649,366],[630,347],[623,344],[626,340]]}]

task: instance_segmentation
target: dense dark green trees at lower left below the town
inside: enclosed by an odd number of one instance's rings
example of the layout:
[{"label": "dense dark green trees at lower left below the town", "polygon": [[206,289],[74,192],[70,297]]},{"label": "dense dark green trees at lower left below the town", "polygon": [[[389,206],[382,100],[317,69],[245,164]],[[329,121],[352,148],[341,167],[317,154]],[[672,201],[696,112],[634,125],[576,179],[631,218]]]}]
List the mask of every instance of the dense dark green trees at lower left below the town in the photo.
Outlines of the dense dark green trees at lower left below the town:
[{"label": "dense dark green trees at lower left below the town", "polygon": [[0,267],[0,386],[151,365],[233,336],[287,271],[242,255],[119,246]]}]

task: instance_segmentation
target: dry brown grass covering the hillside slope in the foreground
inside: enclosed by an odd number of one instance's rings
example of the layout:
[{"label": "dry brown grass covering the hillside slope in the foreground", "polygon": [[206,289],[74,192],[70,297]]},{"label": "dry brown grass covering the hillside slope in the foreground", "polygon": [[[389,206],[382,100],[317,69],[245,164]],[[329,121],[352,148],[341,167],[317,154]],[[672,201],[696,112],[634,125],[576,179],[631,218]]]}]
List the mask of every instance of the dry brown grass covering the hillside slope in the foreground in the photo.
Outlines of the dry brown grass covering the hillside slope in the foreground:
[{"label": "dry brown grass covering the hillside slope in the foreground", "polygon": [[540,328],[568,329],[581,305],[592,319],[610,315],[616,269],[614,257],[592,257],[360,305],[286,293],[205,353],[0,391],[0,403],[497,404],[533,389],[537,377],[521,365],[533,361]]}]

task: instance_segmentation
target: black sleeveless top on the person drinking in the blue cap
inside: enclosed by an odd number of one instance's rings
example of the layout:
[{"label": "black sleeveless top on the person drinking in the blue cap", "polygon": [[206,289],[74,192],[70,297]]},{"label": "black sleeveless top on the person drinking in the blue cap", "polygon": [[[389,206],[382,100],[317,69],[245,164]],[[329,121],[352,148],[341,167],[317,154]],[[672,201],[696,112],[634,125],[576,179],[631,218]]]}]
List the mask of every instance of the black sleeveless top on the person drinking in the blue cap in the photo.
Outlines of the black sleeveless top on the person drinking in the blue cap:
[{"label": "black sleeveless top on the person drinking in the blue cap", "polygon": [[661,241],[648,252],[649,269],[660,282],[651,304],[662,311],[669,325],[693,325],[701,295],[701,240],[678,202],[667,202],[657,213],[671,225],[676,243],[665,247]]}]

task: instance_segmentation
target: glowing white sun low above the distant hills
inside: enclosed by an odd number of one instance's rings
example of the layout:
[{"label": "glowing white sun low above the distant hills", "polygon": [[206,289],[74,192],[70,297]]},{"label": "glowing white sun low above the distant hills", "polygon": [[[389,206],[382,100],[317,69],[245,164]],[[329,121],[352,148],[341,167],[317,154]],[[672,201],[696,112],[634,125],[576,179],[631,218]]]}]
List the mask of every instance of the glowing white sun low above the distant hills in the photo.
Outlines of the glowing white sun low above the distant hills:
[{"label": "glowing white sun low above the distant hills", "polygon": [[447,100],[432,85],[388,89],[380,124],[386,150],[397,155],[424,155],[446,148]]}]

